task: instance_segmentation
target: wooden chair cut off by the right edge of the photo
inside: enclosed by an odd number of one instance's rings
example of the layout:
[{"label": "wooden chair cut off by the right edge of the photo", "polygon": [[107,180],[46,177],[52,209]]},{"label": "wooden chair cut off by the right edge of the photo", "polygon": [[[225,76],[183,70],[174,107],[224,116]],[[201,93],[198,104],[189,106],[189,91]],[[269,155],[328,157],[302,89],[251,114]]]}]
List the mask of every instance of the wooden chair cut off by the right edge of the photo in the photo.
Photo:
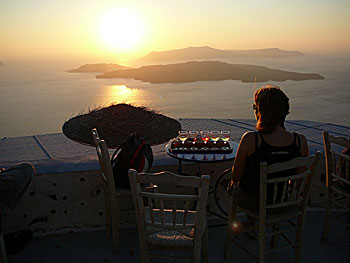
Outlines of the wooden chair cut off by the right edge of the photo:
[{"label": "wooden chair cut off by the right edge of the photo", "polygon": [[[328,132],[322,132],[326,160],[326,213],[321,240],[328,239],[331,218],[347,215],[347,228],[350,229],[350,156],[342,153],[344,147],[350,149],[350,139],[335,137]],[[334,149],[332,149],[332,145]],[[337,166],[344,164],[345,177],[337,174]],[[332,208],[338,207],[344,212],[332,215]]]}]

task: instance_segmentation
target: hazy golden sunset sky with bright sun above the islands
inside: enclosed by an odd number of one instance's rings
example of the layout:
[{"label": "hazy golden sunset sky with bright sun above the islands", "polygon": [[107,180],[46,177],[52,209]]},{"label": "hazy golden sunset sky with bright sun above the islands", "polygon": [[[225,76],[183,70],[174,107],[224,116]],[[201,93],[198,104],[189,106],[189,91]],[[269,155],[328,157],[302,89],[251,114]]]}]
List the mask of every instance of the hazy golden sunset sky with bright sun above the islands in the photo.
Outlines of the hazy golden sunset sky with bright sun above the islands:
[{"label": "hazy golden sunset sky with bright sun above the islands", "polygon": [[107,62],[188,46],[349,55],[349,14],[349,0],[2,0],[0,60]]}]

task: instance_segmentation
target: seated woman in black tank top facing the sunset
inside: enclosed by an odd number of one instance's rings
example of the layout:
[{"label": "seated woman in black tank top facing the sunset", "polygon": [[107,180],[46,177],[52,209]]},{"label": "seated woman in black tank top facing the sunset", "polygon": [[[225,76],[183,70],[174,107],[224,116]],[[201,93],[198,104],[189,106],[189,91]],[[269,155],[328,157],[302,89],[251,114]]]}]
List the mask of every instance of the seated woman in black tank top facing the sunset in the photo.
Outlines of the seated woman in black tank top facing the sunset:
[{"label": "seated woman in black tank top facing the sunset", "polygon": [[285,129],[289,99],[279,87],[267,85],[259,89],[254,101],[257,131],[242,136],[231,179],[231,189],[237,186],[234,194],[238,205],[248,209],[259,206],[261,161],[269,165],[309,154],[304,135]]}]

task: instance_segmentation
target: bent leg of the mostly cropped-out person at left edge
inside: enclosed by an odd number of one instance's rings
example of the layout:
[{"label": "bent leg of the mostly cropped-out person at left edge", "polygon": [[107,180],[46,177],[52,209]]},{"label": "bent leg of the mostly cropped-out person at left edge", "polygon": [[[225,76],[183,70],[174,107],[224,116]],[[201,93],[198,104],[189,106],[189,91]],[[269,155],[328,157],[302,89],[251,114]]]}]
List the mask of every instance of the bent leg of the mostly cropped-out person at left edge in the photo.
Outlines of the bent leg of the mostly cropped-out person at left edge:
[{"label": "bent leg of the mostly cropped-out person at left edge", "polygon": [[3,215],[16,207],[34,174],[35,168],[30,163],[20,163],[0,173],[0,205]]}]

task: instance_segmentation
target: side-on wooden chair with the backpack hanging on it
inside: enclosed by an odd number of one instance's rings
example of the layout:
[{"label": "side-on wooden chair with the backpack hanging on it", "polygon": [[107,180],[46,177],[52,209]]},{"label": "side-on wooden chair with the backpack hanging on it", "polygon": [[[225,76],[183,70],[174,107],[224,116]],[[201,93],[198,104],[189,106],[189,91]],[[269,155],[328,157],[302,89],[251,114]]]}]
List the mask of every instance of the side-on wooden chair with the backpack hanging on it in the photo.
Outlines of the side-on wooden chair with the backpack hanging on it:
[{"label": "side-on wooden chair with the backpack hanging on it", "polygon": [[135,222],[135,210],[127,209],[122,211],[118,209],[118,199],[132,199],[131,191],[128,189],[115,188],[113,170],[107,144],[99,138],[96,129],[91,130],[96,152],[101,167],[101,176],[104,181],[105,196],[105,216],[106,216],[106,234],[112,234],[113,253],[119,253],[119,224],[122,222]]}]

